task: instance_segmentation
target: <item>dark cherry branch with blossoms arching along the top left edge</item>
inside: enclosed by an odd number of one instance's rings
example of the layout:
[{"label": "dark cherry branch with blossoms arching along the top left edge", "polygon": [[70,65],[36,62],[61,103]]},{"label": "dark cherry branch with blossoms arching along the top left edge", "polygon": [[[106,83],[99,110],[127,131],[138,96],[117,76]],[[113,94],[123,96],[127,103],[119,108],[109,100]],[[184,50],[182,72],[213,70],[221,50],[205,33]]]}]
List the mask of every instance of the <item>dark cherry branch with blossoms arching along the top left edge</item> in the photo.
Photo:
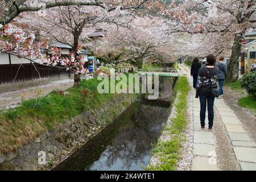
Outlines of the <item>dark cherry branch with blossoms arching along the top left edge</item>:
[{"label": "dark cherry branch with blossoms arching along the top left edge", "polygon": [[158,1],[154,2],[151,0],[5,0],[0,2],[1,13],[0,13],[0,24],[8,24],[13,21],[17,16],[28,11],[42,11],[51,9],[53,7],[60,6],[97,6],[107,11],[113,11],[120,7],[122,10],[126,9],[152,9],[153,6],[157,5]]}]

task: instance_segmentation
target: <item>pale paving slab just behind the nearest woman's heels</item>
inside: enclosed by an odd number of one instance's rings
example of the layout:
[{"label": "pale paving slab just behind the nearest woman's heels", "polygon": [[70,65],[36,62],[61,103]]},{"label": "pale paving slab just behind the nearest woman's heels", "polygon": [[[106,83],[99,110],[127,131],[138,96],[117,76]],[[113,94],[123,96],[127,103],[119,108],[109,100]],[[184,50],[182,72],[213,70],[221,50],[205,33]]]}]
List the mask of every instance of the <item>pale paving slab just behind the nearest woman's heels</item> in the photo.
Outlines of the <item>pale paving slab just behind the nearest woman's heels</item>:
[{"label": "pale paving slab just behind the nearest woman's heels", "polygon": [[206,131],[195,131],[194,143],[214,144],[213,134]]}]

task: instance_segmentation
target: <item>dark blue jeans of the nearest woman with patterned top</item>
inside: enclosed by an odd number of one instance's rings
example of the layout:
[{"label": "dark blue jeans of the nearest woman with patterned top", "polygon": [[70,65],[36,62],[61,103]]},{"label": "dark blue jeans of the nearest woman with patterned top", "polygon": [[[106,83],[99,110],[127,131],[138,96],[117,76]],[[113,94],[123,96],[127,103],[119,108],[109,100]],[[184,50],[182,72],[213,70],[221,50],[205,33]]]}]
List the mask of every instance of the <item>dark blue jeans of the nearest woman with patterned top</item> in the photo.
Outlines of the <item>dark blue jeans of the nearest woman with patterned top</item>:
[{"label": "dark blue jeans of the nearest woman with patterned top", "polygon": [[199,98],[200,98],[200,105],[201,105],[201,110],[200,110],[201,126],[205,127],[205,115],[206,115],[205,113],[206,113],[206,109],[208,109],[209,127],[213,127],[213,119],[214,119],[213,105],[214,105],[215,98],[212,96],[211,92],[200,93]]}]

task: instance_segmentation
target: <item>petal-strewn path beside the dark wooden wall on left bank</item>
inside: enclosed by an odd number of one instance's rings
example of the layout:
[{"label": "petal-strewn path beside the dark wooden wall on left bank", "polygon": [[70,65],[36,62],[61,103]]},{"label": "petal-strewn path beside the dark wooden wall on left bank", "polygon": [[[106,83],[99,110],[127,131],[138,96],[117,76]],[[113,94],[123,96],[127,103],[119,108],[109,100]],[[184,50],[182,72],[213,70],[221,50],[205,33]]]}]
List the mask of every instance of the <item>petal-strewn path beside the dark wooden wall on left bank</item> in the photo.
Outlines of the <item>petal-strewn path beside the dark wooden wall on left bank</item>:
[{"label": "petal-strewn path beside the dark wooden wall on left bank", "polygon": [[0,94],[0,109],[16,107],[22,100],[28,100],[38,96],[45,96],[56,89],[65,90],[73,86],[72,79],[52,81],[47,85],[34,86],[26,89],[16,90]]}]

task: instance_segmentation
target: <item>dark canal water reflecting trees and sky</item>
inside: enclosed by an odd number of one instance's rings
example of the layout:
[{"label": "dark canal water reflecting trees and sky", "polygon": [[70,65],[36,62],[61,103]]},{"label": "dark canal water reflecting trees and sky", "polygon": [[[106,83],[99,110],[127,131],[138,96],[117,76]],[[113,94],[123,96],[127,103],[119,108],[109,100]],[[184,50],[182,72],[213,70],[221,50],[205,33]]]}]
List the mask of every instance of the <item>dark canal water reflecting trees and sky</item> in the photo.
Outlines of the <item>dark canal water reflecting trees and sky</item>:
[{"label": "dark canal water reflecting trees and sky", "polygon": [[[160,90],[162,88],[166,92],[166,88],[170,89],[168,94],[171,97],[173,81],[170,82],[170,79],[161,79]],[[169,115],[170,102],[134,102],[100,134],[54,170],[143,170],[150,162],[152,144],[160,137]]]}]

